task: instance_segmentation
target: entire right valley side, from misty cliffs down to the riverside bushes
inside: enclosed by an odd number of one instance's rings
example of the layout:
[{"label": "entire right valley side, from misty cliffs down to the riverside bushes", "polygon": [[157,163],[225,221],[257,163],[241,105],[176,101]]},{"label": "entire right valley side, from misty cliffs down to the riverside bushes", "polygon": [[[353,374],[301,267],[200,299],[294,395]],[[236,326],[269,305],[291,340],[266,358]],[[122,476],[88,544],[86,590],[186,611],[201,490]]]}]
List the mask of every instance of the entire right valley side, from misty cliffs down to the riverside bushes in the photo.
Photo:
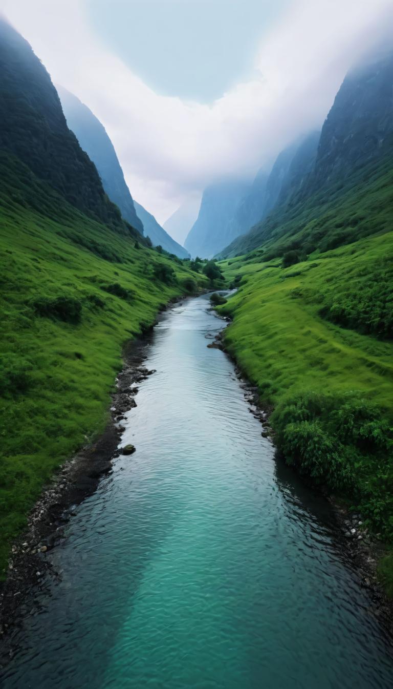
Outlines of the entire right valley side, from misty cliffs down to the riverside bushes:
[{"label": "entire right valley side, from misty cliffs down to the riverside bushes", "polygon": [[[310,139],[270,216],[224,252],[240,289],[219,307],[233,318],[226,348],[274,407],[287,462],[390,545],[392,89],[387,56],[346,78],[316,158]],[[393,554],[381,571],[393,593]]]}]

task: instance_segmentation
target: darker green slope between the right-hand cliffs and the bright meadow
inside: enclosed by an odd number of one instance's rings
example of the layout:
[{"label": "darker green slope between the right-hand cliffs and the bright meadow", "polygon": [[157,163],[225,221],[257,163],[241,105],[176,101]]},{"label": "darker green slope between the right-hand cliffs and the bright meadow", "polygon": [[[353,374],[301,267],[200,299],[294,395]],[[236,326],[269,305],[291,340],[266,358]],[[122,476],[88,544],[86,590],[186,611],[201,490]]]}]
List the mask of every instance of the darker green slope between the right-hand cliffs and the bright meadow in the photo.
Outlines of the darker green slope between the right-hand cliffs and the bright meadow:
[{"label": "darker green slope between the right-hand cliffs and the bright meadow", "polygon": [[[257,251],[259,256],[283,256],[290,249],[304,254],[327,251],[361,237],[392,229],[393,169],[390,156],[354,169],[346,183],[336,181],[310,198],[299,194],[279,206],[251,232],[237,238],[222,256]],[[262,247],[262,249],[261,249]]]}]

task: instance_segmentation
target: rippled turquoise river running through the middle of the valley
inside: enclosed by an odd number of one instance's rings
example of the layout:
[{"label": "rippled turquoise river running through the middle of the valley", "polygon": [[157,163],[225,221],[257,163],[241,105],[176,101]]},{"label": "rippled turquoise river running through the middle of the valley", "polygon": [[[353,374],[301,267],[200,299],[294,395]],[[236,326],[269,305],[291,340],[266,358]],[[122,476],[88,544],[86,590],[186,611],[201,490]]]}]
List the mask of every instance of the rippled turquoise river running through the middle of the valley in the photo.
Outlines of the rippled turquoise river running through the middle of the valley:
[{"label": "rippled turquoise river running through the middle of the valley", "polygon": [[393,659],[326,502],[208,349],[206,297],[156,327],[119,457],[50,557],[4,689],[391,688]]}]

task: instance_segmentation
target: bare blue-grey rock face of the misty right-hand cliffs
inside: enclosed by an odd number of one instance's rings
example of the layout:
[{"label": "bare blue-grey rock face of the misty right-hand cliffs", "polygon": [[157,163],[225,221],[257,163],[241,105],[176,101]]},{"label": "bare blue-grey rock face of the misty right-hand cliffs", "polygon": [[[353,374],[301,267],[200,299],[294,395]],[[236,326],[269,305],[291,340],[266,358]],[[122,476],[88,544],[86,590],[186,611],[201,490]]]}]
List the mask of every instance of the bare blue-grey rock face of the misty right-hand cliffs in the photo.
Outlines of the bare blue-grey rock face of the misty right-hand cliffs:
[{"label": "bare blue-grey rock face of the misty right-hand cliffs", "polygon": [[[312,132],[277,158],[266,183],[264,218],[220,256],[246,253],[270,238],[290,212],[318,196],[336,198],[378,174],[393,149],[393,52],[380,51],[344,79],[321,135]],[[374,168],[371,172],[370,165]],[[379,167],[381,165],[381,167]],[[286,217],[285,217],[286,216]]]}]

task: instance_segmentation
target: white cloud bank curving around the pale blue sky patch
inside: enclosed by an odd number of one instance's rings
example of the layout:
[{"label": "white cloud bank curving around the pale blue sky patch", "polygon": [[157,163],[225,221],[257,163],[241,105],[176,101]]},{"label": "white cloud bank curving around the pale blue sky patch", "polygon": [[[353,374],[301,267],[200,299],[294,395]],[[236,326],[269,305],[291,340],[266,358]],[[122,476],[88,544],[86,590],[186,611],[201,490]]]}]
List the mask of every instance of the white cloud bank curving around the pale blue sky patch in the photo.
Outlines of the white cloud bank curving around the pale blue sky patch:
[{"label": "white cloud bank curving around the pale blue sky patch", "polygon": [[153,92],[93,34],[83,0],[2,0],[1,8],[53,81],[103,122],[131,194],[162,221],[195,189],[253,174],[319,127],[392,0],[293,0],[256,56],[259,78],[213,105]]}]

